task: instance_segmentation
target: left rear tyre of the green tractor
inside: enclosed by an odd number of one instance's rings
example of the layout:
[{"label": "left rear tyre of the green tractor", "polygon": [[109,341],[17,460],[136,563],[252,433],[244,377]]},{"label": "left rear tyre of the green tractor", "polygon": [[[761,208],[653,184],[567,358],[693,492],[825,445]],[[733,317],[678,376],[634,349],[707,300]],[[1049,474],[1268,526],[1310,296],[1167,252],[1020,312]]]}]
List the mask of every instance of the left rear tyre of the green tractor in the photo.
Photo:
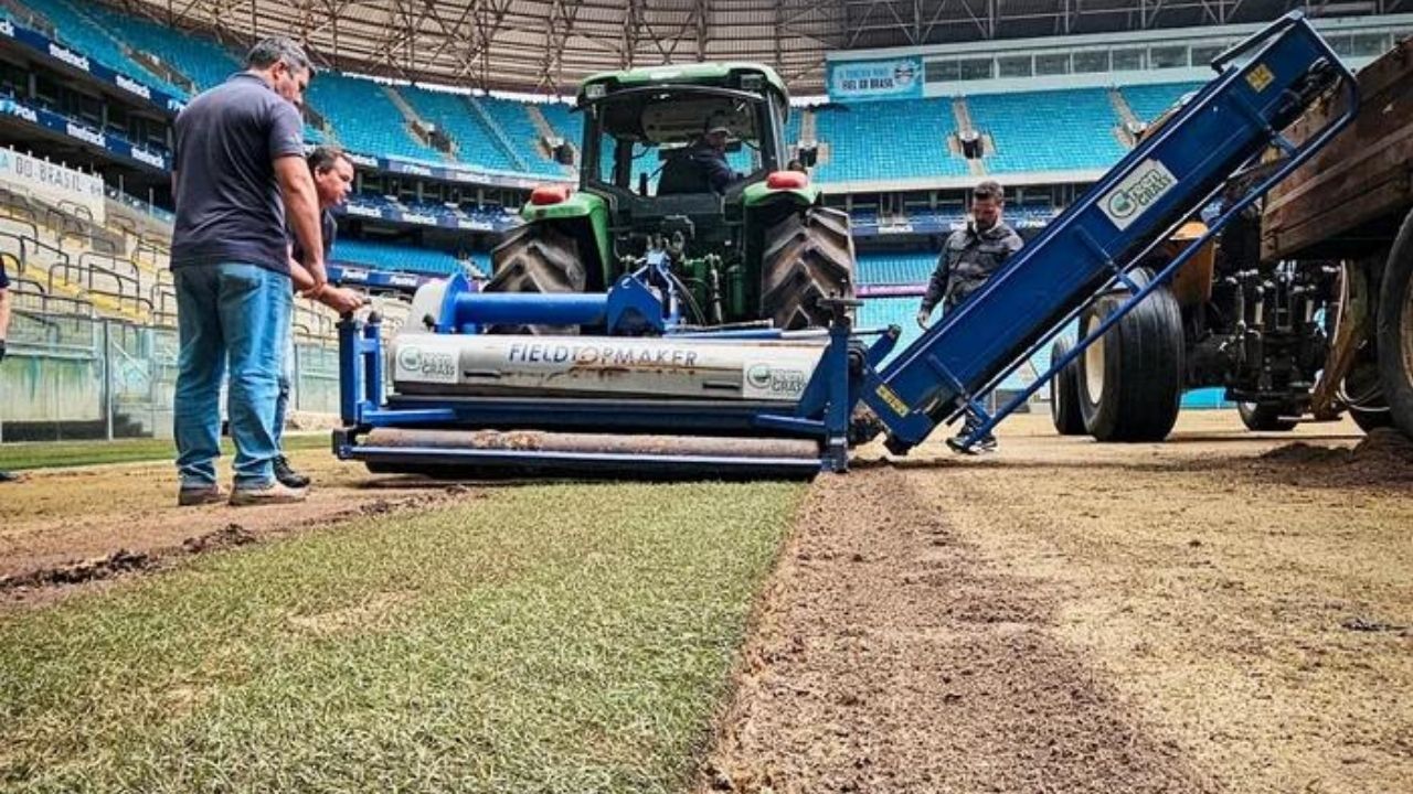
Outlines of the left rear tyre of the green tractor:
[{"label": "left rear tyre of the green tractor", "polygon": [[[543,223],[506,235],[490,254],[495,275],[486,292],[582,292],[588,285],[579,243]],[[487,333],[578,333],[577,325],[490,325]]]}]

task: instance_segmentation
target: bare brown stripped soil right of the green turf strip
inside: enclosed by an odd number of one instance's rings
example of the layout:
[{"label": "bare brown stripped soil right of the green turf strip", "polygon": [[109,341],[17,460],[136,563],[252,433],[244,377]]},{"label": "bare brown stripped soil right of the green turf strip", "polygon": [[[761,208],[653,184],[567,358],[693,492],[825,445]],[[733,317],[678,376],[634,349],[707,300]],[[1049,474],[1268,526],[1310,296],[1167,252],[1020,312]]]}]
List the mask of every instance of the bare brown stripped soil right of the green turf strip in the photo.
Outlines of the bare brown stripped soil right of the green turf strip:
[{"label": "bare brown stripped soil right of the green turf strip", "polygon": [[1413,446],[1003,429],[817,482],[699,791],[1413,790]]}]

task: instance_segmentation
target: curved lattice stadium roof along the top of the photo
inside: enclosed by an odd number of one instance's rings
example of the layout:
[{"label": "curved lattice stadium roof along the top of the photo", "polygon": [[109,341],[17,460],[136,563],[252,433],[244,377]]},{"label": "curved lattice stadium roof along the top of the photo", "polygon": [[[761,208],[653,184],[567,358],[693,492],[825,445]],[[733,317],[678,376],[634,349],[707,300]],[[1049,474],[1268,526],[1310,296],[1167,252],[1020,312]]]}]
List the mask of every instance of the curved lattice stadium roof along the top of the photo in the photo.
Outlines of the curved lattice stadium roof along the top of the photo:
[{"label": "curved lattice stadium roof along the top of the photo", "polygon": [[[324,65],[466,88],[572,93],[605,69],[759,61],[820,93],[829,51],[1355,17],[1413,0],[109,0],[235,47],[276,32]],[[1402,7],[1402,8],[1400,8]]]}]

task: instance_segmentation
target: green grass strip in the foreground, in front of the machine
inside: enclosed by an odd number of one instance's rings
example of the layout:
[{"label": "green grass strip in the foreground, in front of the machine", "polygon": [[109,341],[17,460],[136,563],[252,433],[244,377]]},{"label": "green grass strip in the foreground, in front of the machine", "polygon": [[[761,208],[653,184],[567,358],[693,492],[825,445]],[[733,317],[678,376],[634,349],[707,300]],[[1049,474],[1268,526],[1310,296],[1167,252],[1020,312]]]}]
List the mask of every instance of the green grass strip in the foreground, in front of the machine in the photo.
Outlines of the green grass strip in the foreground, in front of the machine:
[{"label": "green grass strip in the foreground, in front of the machine", "polygon": [[681,791],[798,485],[551,485],[0,616],[0,788]]}]

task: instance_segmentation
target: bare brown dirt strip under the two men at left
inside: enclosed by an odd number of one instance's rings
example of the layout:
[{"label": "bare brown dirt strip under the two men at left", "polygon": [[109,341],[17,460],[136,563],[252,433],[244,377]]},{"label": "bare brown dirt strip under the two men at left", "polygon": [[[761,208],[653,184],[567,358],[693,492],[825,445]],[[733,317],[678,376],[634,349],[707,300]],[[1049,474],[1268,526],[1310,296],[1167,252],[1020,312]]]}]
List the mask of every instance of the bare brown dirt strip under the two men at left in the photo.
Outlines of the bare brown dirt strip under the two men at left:
[{"label": "bare brown dirt strip under the two men at left", "polygon": [[[408,478],[369,476],[322,449],[291,455],[314,479],[301,504],[177,506],[168,461],[25,472],[0,502],[0,606],[47,600],[55,591],[171,564],[294,530],[418,507],[465,493]],[[229,487],[229,459],[220,469]]]}]

